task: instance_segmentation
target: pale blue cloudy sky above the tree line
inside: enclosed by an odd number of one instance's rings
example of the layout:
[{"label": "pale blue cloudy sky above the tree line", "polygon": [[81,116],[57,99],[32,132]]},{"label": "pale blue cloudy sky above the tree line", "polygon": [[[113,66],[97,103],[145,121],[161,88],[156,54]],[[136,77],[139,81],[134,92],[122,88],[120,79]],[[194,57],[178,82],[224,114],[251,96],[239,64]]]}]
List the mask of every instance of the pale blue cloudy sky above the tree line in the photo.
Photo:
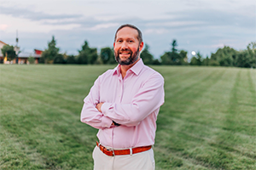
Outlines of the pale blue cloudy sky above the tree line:
[{"label": "pale blue cloudy sky above the tree line", "polygon": [[122,24],[143,32],[143,42],[159,59],[177,49],[211,56],[218,48],[236,50],[256,42],[255,0],[0,0],[0,40],[22,52],[44,50],[52,36],[61,53],[78,54],[84,41],[91,48],[113,47]]}]

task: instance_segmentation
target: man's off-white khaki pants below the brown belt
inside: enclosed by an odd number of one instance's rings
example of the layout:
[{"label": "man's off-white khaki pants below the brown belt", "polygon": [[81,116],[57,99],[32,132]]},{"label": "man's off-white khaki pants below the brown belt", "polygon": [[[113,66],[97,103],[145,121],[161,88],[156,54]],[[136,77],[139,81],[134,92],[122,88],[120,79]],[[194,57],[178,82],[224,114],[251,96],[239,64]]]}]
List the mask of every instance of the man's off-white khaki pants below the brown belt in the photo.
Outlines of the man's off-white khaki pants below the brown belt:
[{"label": "man's off-white khaki pants below the brown belt", "polygon": [[131,156],[107,156],[96,146],[92,157],[94,170],[154,170],[152,149]]}]

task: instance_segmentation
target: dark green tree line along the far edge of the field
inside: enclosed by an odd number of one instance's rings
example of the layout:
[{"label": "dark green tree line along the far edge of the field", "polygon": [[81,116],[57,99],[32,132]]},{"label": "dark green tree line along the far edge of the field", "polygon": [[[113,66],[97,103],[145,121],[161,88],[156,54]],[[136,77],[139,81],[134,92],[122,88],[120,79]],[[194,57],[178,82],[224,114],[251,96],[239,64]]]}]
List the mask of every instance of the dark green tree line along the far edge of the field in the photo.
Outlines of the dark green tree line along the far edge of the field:
[{"label": "dark green tree line along the far edge of the field", "polygon": [[[6,55],[8,60],[14,59],[14,48],[9,45],[5,46],[2,48],[3,57]],[[188,52],[183,49],[178,50],[177,41],[174,39],[170,51],[166,51],[160,56],[160,59],[154,59],[154,56],[149,52],[148,44],[145,44],[141,58],[145,65],[212,65],[256,68],[256,42],[249,43],[246,49],[240,51],[224,46],[224,48],[218,48],[217,52],[212,53],[210,57],[203,57],[200,52],[197,52],[189,60]],[[87,41],[82,45],[78,55],[61,54],[60,48],[56,47],[56,40],[53,36],[52,40],[48,42],[48,48],[44,50],[39,59],[39,63],[95,65],[116,64],[116,61],[113,48],[101,48],[100,54],[98,54],[97,48],[90,48]]]}]

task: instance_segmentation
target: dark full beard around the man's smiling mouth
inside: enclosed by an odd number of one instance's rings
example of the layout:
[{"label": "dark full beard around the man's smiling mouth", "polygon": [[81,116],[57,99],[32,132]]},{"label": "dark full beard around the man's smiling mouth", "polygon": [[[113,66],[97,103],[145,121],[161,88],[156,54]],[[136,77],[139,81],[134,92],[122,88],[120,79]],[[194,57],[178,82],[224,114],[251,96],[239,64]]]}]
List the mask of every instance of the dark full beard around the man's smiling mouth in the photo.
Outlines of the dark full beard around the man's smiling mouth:
[{"label": "dark full beard around the man's smiling mouth", "polygon": [[[129,52],[130,53],[130,57],[128,59],[125,60],[121,60],[119,57],[119,53],[120,52]],[[132,53],[131,49],[119,49],[118,52],[114,52],[114,56],[115,56],[115,60],[119,63],[119,65],[131,65],[133,64],[135,61],[137,61],[138,56],[139,56],[139,47],[137,48],[137,51],[135,53]]]}]

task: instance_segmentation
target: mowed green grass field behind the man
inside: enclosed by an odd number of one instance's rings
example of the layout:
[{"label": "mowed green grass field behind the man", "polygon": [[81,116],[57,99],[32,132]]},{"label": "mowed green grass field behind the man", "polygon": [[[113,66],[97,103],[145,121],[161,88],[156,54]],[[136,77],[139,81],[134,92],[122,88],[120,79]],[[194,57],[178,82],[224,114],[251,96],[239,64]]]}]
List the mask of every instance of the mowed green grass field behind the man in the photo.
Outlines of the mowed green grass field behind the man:
[{"label": "mowed green grass field behind the man", "polygon": [[[113,65],[0,65],[0,169],[92,169],[83,99]],[[154,66],[165,77],[156,169],[256,169],[256,70]]]}]

